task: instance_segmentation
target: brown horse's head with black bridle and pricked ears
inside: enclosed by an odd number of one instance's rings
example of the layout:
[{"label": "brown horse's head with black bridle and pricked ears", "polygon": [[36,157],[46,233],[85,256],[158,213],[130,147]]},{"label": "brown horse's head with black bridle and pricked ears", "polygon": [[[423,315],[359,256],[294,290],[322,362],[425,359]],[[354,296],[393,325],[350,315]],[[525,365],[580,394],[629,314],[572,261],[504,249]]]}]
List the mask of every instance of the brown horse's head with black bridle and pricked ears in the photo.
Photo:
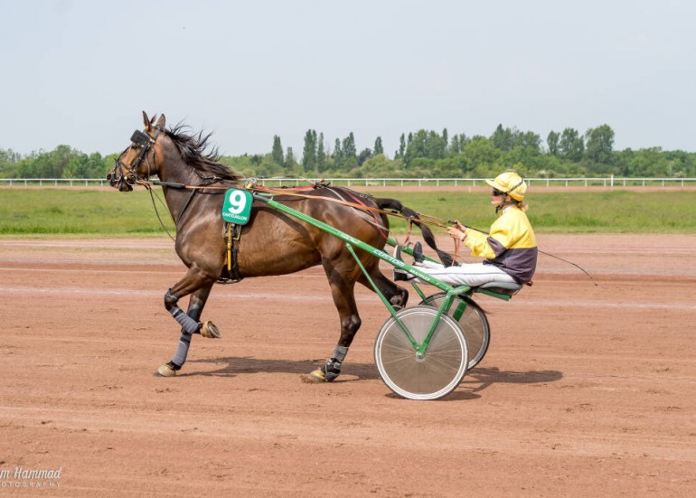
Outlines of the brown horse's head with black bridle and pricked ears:
[{"label": "brown horse's head with black bridle and pricked ears", "polygon": [[118,156],[113,169],[107,174],[111,186],[121,192],[132,191],[138,181],[148,181],[150,176],[158,173],[155,148],[157,137],[165,132],[165,115],[161,115],[155,123],[155,116],[148,119],[143,111],[143,120],[145,131],[133,132],[130,146]]}]

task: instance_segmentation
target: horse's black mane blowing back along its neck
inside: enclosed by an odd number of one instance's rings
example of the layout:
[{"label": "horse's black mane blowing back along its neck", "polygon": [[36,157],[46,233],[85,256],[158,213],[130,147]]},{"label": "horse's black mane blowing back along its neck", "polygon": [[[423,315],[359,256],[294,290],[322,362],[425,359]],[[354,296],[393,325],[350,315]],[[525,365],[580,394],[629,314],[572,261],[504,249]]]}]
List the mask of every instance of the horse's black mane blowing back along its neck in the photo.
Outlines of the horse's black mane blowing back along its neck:
[{"label": "horse's black mane blowing back along its neck", "polygon": [[165,130],[182,155],[183,161],[193,167],[199,173],[205,175],[214,175],[223,180],[239,182],[242,175],[232,171],[229,166],[219,162],[220,155],[217,147],[208,144],[208,139],[211,133],[203,135],[199,132],[197,135],[190,135],[189,127],[178,124],[171,129]]}]

